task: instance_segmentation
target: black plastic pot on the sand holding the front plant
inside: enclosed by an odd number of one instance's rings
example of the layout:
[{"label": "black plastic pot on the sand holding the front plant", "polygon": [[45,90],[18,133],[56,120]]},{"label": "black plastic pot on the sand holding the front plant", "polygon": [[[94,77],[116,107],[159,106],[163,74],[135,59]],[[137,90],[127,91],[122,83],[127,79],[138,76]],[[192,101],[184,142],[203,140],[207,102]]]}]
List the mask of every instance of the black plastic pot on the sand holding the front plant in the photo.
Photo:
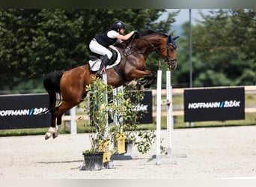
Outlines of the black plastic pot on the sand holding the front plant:
[{"label": "black plastic pot on the sand holding the front plant", "polygon": [[97,171],[103,167],[103,152],[83,153],[85,159],[85,170]]}]

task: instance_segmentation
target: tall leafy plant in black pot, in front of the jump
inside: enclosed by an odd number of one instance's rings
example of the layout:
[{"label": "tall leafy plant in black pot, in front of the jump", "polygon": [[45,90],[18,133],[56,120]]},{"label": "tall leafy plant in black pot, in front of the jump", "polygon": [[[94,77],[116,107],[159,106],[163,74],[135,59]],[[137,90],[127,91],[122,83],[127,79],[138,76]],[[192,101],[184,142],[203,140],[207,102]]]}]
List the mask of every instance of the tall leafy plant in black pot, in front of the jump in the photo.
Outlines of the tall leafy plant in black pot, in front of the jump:
[{"label": "tall leafy plant in black pot, in front of the jump", "polygon": [[109,104],[107,102],[107,93],[112,89],[102,79],[94,79],[94,82],[86,88],[90,90],[89,108],[90,115],[90,133],[89,139],[91,149],[85,150],[85,170],[100,170],[103,167],[104,156],[109,152],[109,126],[107,126]]}]

